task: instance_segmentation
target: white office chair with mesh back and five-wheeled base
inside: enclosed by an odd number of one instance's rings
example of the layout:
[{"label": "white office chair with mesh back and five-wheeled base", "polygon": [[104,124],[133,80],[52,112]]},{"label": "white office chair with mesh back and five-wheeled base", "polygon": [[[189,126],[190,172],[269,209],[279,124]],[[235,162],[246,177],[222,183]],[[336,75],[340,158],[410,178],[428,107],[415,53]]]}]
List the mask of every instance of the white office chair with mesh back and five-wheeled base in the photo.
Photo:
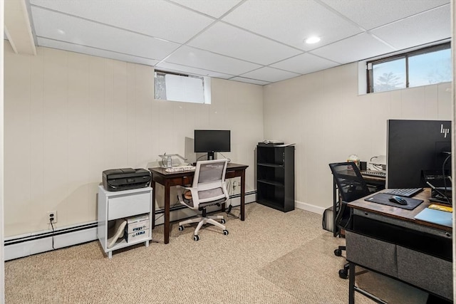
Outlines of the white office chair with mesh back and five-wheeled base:
[{"label": "white office chair with mesh back and five-wheeled base", "polygon": [[[181,204],[193,210],[202,211],[202,216],[196,219],[187,219],[179,223],[179,231],[184,230],[185,224],[198,223],[193,239],[199,240],[198,232],[204,224],[212,224],[223,229],[226,236],[228,230],[225,228],[223,216],[207,216],[207,206],[224,203],[229,199],[227,185],[225,183],[225,172],[227,171],[228,159],[215,159],[197,162],[195,177],[192,187],[177,186],[177,197]],[[221,220],[220,223],[215,221]]]}]

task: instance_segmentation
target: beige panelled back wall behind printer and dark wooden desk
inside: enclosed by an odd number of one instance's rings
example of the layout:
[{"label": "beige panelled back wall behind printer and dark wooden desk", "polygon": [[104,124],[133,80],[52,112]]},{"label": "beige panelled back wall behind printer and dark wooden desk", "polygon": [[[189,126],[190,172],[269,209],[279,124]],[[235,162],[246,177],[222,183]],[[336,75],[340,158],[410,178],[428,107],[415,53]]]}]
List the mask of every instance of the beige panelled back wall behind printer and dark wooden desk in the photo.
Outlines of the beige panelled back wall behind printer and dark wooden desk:
[{"label": "beige panelled back wall behind printer and dark wooden desk", "polygon": [[247,191],[255,188],[261,86],[214,79],[211,105],[166,102],[153,99],[152,67],[37,52],[16,55],[5,41],[5,236],[50,229],[51,210],[57,227],[95,221],[103,170],[147,168],[165,152],[184,155],[185,137],[196,128],[232,130],[232,152],[224,155],[249,165]]}]

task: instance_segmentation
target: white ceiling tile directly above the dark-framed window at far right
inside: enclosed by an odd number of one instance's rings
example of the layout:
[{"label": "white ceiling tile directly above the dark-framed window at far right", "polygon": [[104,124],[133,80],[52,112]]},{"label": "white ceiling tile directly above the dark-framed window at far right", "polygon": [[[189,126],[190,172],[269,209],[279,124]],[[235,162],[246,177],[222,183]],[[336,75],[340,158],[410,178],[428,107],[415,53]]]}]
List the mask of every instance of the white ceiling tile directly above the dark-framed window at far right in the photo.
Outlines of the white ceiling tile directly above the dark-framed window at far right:
[{"label": "white ceiling tile directly above the dark-framed window at far right", "polygon": [[371,31],[398,49],[451,38],[450,4]]}]

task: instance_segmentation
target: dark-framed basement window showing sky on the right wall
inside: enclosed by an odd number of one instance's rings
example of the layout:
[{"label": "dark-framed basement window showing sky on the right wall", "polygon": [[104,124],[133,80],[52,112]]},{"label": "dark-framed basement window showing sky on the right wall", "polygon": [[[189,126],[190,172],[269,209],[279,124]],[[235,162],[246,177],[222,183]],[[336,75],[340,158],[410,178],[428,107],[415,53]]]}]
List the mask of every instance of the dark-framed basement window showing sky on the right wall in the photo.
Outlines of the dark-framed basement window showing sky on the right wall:
[{"label": "dark-framed basement window showing sky on the right wall", "polygon": [[450,43],[367,62],[368,93],[452,81]]}]

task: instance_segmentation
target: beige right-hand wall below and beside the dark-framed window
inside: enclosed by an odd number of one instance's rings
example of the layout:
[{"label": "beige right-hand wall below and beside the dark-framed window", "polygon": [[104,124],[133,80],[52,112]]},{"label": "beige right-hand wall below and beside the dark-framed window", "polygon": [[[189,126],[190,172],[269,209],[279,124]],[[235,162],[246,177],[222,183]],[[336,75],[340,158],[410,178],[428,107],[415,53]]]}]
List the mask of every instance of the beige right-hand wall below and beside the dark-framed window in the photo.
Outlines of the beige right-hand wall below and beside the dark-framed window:
[{"label": "beige right-hand wall below and beside the dark-framed window", "polygon": [[330,162],[386,153],[386,120],[451,120],[451,83],[358,95],[352,63],[264,87],[264,136],[296,142],[296,201],[332,204]]}]

